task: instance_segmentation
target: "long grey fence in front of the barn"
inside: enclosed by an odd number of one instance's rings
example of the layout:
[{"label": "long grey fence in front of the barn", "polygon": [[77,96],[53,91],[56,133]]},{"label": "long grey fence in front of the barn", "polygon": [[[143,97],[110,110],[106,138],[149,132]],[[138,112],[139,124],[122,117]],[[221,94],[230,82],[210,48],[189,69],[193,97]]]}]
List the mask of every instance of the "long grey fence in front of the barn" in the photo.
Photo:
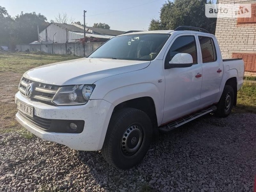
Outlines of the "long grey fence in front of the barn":
[{"label": "long grey fence in front of the barn", "polygon": [[41,51],[50,54],[71,54],[82,57],[83,49],[87,56],[102,44],[103,42],[87,42],[84,48],[79,42],[67,42],[66,44],[30,44],[16,45],[16,49],[21,52]]}]

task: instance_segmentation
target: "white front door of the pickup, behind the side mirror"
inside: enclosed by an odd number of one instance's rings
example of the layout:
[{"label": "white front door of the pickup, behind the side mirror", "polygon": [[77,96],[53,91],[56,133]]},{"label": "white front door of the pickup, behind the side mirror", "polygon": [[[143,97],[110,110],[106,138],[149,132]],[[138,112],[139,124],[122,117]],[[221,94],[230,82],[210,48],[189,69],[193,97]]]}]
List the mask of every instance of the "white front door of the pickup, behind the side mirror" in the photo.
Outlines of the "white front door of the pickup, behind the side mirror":
[{"label": "white front door of the pickup, behind the side mirror", "polygon": [[168,47],[165,60],[177,53],[188,53],[194,65],[188,68],[164,69],[165,96],[162,123],[185,116],[198,109],[202,86],[202,66],[198,63],[199,46],[193,33],[177,35]]}]

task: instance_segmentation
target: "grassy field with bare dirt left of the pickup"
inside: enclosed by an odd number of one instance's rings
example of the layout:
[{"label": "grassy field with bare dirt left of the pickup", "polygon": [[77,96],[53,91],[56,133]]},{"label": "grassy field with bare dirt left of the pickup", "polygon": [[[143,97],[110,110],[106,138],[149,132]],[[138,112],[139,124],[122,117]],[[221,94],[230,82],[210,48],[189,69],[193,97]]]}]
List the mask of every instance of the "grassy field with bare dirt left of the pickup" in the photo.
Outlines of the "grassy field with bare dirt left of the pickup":
[{"label": "grassy field with bare dirt left of the pickup", "polygon": [[[24,132],[22,126],[15,120],[17,113],[14,103],[14,95],[18,89],[19,79],[22,74],[31,68],[46,65],[49,63],[79,58],[72,55],[50,55],[45,53],[9,53],[0,52],[0,78],[7,80],[7,88],[0,89],[0,134],[21,131],[21,135],[31,139],[33,135]],[[16,75],[15,75],[16,74]],[[7,98],[11,96],[12,98]],[[4,101],[7,98],[6,101]]]}]

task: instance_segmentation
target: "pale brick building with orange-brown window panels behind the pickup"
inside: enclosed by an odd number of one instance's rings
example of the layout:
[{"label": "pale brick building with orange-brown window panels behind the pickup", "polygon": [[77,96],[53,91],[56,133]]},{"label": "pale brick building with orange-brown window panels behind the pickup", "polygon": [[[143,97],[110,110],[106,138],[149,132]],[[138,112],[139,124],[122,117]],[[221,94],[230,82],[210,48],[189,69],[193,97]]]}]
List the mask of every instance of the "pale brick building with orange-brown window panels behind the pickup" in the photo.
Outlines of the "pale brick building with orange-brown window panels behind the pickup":
[{"label": "pale brick building with orange-brown window panels behind the pickup", "polygon": [[218,18],[216,37],[223,58],[243,58],[245,76],[256,76],[256,1],[219,0],[219,4],[251,4],[251,18]]}]

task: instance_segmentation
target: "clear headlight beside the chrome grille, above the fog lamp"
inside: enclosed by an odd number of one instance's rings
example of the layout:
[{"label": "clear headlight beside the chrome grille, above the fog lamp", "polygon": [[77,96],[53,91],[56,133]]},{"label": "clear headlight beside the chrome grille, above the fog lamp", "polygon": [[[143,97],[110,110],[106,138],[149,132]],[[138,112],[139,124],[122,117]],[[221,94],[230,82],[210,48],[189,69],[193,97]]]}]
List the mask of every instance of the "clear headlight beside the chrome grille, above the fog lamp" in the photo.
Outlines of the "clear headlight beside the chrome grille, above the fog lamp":
[{"label": "clear headlight beside the chrome grille, above the fog lamp", "polygon": [[95,85],[64,86],[59,88],[52,98],[55,105],[79,105],[86,104],[91,97]]}]

